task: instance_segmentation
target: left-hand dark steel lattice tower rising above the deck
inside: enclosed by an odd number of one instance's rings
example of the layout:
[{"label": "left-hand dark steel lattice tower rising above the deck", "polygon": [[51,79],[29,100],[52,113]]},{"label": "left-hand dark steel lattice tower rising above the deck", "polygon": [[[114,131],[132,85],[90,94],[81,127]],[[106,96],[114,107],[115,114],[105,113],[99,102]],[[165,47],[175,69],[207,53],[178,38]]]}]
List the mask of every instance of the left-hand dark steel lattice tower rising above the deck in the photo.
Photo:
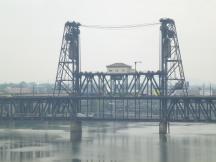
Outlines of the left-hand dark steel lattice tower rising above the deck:
[{"label": "left-hand dark steel lattice tower rising above the deck", "polygon": [[[79,26],[80,24],[74,21],[65,23],[54,96],[79,96],[80,94]],[[74,106],[78,110],[80,101],[75,101]]]}]

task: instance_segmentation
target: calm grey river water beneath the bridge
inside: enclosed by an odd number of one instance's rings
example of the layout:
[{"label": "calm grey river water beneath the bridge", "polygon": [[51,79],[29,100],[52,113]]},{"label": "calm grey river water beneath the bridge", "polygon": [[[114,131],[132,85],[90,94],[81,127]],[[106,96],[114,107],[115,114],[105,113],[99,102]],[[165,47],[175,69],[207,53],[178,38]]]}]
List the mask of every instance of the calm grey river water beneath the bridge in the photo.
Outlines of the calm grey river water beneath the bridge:
[{"label": "calm grey river water beneath the bridge", "polygon": [[215,162],[216,124],[0,122],[0,162]]}]

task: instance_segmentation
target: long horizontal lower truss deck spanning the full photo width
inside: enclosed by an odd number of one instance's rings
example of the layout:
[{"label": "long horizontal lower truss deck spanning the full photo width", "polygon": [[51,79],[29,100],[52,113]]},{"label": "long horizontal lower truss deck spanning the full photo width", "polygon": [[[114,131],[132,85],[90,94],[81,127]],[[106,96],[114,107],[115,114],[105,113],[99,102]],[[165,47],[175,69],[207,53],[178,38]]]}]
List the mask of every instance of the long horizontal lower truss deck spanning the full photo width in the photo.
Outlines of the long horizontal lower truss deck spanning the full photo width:
[{"label": "long horizontal lower truss deck spanning the full photo width", "polygon": [[[216,121],[216,97],[8,97],[0,98],[0,119],[160,121],[161,100],[168,121]],[[81,110],[77,109],[81,101]],[[77,113],[82,113],[77,117]]]}]

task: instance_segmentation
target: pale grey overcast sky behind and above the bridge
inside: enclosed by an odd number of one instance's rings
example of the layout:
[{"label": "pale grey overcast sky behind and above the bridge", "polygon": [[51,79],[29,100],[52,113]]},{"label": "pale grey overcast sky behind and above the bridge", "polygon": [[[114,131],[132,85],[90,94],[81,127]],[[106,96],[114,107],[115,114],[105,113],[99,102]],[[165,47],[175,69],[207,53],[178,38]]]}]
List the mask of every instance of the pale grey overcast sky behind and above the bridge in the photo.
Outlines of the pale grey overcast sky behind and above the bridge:
[{"label": "pale grey overcast sky behind and above the bridge", "polygon": [[[1,0],[0,83],[54,82],[64,23],[124,25],[176,22],[186,79],[216,83],[215,0]],[[159,66],[159,26],[130,30],[81,29],[83,71],[114,62],[138,70]]]}]

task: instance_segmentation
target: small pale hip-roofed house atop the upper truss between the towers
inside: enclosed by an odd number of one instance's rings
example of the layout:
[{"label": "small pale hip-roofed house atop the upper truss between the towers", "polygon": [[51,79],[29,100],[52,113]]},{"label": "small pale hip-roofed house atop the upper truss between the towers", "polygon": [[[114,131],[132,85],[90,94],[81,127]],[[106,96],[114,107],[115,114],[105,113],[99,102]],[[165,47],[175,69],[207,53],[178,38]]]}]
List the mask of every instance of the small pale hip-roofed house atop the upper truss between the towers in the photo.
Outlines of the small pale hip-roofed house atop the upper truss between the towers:
[{"label": "small pale hip-roofed house atop the upper truss between the towers", "polygon": [[108,73],[132,73],[134,70],[130,65],[124,63],[114,63],[111,65],[107,65]]}]

